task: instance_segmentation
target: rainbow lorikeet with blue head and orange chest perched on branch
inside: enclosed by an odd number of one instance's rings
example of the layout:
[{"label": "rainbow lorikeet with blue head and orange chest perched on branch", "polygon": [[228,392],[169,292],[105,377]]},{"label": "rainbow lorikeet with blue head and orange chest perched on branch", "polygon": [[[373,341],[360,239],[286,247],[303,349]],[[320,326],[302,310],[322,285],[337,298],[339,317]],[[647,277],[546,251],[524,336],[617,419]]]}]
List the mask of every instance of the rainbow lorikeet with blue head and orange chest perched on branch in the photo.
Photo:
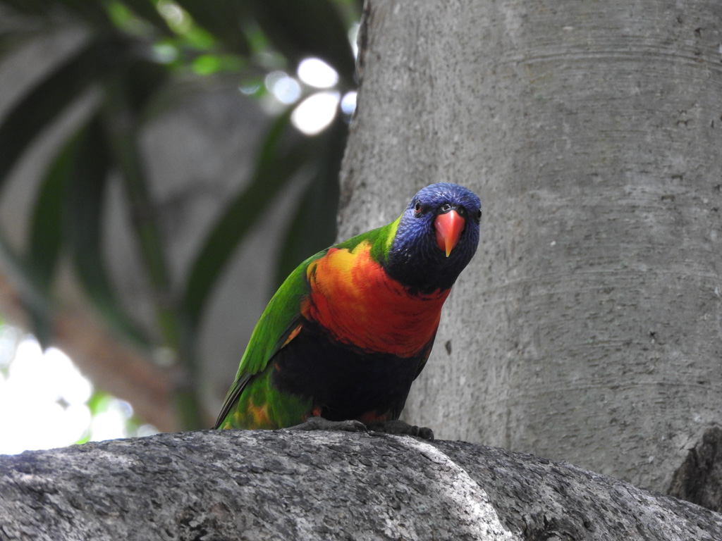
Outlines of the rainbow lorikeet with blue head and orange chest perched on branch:
[{"label": "rainbow lorikeet with blue head and orange chest perched on branch", "polygon": [[419,191],[399,219],[301,263],[258,320],[215,428],[414,434],[398,421],[441,307],[477,250],[481,202]]}]

